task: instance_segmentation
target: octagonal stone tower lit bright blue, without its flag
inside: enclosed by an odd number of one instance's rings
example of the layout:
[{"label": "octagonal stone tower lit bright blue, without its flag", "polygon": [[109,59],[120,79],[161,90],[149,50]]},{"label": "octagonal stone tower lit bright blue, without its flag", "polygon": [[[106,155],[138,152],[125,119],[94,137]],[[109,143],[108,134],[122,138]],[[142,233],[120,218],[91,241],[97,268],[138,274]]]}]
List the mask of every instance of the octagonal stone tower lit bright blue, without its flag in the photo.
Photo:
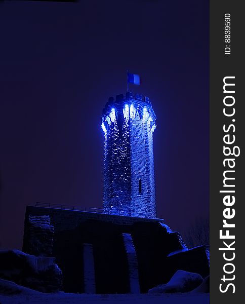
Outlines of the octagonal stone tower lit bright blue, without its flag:
[{"label": "octagonal stone tower lit bright blue, without its flag", "polygon": [[131,92],[110,97],[102,115],[104,213],[156,217],[153,131],[148,97]]}]

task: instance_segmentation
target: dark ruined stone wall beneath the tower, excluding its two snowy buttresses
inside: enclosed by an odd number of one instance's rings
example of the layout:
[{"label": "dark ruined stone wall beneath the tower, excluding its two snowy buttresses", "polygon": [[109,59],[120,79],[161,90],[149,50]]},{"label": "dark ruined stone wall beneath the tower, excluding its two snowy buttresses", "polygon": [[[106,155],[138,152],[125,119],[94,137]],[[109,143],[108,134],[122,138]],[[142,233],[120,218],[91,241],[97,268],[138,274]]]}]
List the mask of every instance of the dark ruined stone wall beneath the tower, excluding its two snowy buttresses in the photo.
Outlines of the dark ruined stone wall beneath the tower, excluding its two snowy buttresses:
[{"label": "dark ruined stone wall beneath the tower, excluding its two snowy buttresses", "polygon": [[[62,290],[65,292],[86,292],[84,244],[93,246],[96,293],[131,292],[129,261],[122,234],[132,237],[142,293],[167,283],[176,272],[177,263],[182,270],[191,269],[200,275],[209,272],[207,255],[198,253],[192,265],[197,251],[186,251],[179,233],[172,232],[164,220],[156,218],[27,206],[23,243],[30,244],[26,229],[29,215],[47,214],[54,226],[52,256],[62,271]],[[28,252],[32,254],[30,249]],[[169,256],[183,250],[186,251],[183,255]],[[173,261],[171,267],[170,261]]]}]

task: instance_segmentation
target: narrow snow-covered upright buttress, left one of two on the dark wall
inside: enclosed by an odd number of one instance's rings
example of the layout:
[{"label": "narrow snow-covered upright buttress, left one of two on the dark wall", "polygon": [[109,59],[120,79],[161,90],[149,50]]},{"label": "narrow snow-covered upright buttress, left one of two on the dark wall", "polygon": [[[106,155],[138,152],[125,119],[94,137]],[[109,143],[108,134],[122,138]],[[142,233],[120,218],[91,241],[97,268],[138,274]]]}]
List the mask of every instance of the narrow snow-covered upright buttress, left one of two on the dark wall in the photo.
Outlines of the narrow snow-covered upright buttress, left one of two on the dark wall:
[{"label": "narrow snow-covered upright buttress, left one of two on the dark wall", "polygon": [[96,293],[93,245],[84,243],[84,292]]}]

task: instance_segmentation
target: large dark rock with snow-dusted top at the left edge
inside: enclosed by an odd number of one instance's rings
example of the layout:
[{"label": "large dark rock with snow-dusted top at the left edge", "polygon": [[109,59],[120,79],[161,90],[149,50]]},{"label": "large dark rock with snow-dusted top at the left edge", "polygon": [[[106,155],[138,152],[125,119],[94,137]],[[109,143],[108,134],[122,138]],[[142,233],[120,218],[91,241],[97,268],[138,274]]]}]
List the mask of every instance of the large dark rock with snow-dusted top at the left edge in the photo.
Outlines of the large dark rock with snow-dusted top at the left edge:
[{"label": "large dark rock with snow-dusted top at the left edge", "polygon": [[62,272],[54,257],[1,250],[0,278],[41,292],[57,292],[61,288]]}]

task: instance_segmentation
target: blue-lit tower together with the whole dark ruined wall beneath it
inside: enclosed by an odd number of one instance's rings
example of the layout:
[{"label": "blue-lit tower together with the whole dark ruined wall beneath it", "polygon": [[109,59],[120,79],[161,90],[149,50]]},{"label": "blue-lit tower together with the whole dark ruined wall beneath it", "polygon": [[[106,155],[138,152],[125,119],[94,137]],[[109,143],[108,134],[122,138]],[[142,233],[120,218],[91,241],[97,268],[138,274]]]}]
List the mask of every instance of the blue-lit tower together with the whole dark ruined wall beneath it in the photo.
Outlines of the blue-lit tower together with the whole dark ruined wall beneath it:
[{"label": "blue-lit tower together with the whole dark ruined wall beneath it", "polygon": [[106,103],[103,213],[27,206],[23,250],[56,257],[64,292],[145,293],[178,269],[208,275],[208,247],[188,250],[156,218],[155,121],[148,97]]}]

